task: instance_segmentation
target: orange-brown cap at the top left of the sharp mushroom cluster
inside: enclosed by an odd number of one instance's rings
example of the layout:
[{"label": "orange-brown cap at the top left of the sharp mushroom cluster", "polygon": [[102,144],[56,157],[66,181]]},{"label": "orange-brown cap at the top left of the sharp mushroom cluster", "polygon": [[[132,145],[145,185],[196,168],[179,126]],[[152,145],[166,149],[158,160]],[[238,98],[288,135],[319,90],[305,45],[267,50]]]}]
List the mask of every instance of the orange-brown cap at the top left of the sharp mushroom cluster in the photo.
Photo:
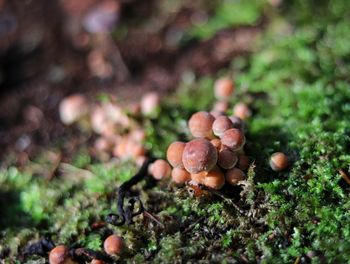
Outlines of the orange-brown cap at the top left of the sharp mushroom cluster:
[{"label": "orange-brown cap at the top left of the sharp mushroom cluster", "polygon": [[208,112],[201,111],[193,114],[188,121],[191,134],[198,138],[212,138],[212,126],[215,118]]}]

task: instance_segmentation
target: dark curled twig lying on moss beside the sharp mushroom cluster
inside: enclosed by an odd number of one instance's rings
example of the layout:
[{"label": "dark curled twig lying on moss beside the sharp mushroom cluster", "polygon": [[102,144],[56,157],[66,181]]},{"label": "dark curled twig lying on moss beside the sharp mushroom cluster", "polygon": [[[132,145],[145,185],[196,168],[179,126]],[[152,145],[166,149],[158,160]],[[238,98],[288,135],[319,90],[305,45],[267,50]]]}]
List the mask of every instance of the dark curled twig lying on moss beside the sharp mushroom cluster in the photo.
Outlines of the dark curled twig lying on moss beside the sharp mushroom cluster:
[{"label": "dark curled twig lying on moss beside the sharp mushroom cluster", "polygon": [[[141,214],[144,210],[142,202],[138,197],[133,197],[129,200],[129,205],[124,209],[124,200],[127,191],[131,189],[132,186],[142,181],[148,175],[148,167],[154,161],[154,158],[148,158],[141,166],[140,170],[133,176],[130,180],[124,182],[118,189],[117,192],[117,214],[108,214],[106,217],[106,222],[114,226],[121,226],[124,224],[132,224],[133,217]],[[134,211],[135,203],[139,202],[139,210]]]}]

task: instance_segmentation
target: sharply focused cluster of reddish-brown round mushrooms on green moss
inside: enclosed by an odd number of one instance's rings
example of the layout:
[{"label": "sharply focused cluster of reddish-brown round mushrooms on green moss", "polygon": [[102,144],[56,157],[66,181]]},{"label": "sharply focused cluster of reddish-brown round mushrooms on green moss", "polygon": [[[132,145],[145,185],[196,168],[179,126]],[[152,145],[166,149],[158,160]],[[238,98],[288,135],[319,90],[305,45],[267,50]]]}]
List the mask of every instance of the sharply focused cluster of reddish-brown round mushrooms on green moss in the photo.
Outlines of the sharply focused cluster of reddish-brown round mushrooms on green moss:
[{"label": "sharply focused cluster of reddish-brown round mushrooms on green moss", "polygon": [[243,151],[245,135],[240,118],[225,114],[214,117],[201,111],[191,116],[188,127],[194,139],[173,142],[167,150],[175,183],[192,180],[219,190],[225,183],[237,185],[246,179],[249,159]]}]

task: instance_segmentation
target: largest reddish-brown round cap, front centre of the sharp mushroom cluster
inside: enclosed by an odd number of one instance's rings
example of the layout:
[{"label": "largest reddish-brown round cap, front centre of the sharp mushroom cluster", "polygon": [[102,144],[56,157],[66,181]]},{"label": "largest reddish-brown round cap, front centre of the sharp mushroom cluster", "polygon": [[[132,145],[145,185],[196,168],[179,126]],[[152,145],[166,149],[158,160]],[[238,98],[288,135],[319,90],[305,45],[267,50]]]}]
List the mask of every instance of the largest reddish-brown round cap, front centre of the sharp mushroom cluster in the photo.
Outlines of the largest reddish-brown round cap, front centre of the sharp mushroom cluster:
[{"label": "largest reddish-brown round cap, front centre of the sharp mushroom cluster", "polygon": [[211,170],[218,160],[216,148],[206,139],[194,139],[185,146],[182,163],[190,173]]}]

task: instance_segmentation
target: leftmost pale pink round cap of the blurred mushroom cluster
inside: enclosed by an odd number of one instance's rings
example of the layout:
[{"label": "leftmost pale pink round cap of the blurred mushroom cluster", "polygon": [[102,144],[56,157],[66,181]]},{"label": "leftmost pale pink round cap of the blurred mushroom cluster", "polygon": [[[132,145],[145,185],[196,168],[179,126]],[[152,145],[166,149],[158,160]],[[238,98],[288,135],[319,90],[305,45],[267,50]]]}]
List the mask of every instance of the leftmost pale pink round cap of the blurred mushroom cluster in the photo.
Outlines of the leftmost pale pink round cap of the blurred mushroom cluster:
[{"label": "leftmost pale pink round cap of the blurred mushroom cluster", "polygon": [[71,125],[81,119],[88,112],[85,96],[74,94],[64,98],[59,105],[59,115],[62,123]]}]

